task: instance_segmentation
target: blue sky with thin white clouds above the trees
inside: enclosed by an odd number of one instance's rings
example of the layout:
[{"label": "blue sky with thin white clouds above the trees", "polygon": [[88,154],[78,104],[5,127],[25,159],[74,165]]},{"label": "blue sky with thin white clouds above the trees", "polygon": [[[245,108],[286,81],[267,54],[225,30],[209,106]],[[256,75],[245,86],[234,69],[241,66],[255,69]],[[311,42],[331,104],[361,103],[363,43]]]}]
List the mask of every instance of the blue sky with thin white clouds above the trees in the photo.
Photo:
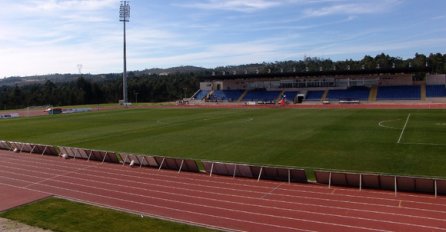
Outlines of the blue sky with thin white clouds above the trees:
[{"label": "blue sky with thin white clouds above the trees", "polygon": [[[0,78],[122,72],[119,0],[0,0]],[[134,0],[128,70],[446,53],[444,0]]]}]

